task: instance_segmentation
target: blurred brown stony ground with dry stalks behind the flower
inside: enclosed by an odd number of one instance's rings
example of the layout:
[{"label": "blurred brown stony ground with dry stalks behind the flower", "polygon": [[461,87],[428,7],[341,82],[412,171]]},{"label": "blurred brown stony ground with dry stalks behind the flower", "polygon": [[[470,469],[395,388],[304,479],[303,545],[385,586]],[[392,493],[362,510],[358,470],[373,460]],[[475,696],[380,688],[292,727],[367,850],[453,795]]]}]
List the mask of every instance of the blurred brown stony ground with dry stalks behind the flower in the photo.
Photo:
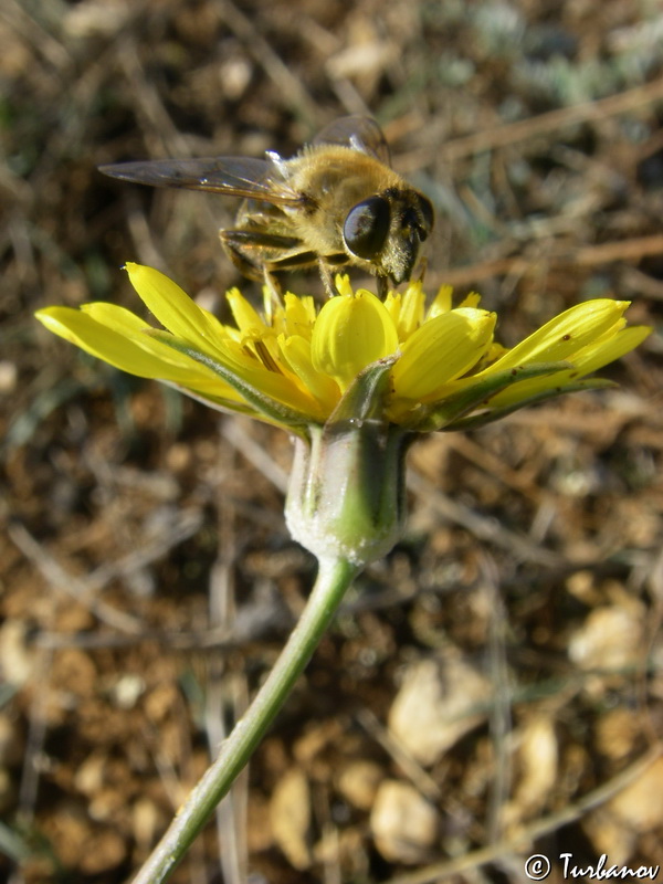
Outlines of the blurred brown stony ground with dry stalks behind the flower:
[{"label": "blurred brown stony ground with dry stalks behind the flower", "polygon": [[[222,314],[236,203],[104,178],[296,152],[375,116],[438,222],[425,286],[513,345],[590,297],[656,329],[571,396],[411,451],[347,599],[176,882],[519,882],[663,861],[663,13],[648,0],[3,0],[0,876],[126,881],[315,576],[285,433],[86,357],[33,312]],[[320,292],[316,274],[290,276]],[[568,875],[567,875],[568,876]]]}]

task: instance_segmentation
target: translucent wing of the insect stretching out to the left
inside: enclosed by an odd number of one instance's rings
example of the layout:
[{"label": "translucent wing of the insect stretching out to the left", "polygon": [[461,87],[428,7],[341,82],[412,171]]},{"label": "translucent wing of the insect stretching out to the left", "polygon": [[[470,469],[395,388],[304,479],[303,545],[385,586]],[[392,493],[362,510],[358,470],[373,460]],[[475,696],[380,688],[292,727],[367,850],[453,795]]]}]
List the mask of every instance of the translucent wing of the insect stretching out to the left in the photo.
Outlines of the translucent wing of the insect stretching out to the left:
[{"label": "translucent wing of the insect stretching out to the left", "polygon": [[99,166],[99,171],[120,181],[208,190],[278,206],[298,206],[303,199],[284,183],[282,170],[273,160],[251,157],[139,160]]}]

